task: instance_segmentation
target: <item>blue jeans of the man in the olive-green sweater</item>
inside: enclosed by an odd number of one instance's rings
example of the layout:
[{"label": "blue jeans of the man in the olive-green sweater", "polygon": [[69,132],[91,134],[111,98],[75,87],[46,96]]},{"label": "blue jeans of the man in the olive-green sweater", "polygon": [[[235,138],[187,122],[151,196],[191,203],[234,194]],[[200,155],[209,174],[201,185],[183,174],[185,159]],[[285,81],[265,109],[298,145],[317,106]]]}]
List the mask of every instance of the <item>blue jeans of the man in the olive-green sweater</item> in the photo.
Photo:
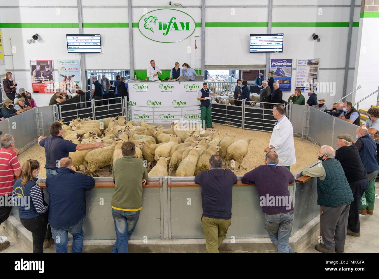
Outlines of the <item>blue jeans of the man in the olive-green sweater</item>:
[{"label": "blue jeans of the man in the olive-green sweater", "polygon": [[112,208],[116,242],[111,253],[128,253],[128,240],[139,219],[138,211],[122,211]]}]

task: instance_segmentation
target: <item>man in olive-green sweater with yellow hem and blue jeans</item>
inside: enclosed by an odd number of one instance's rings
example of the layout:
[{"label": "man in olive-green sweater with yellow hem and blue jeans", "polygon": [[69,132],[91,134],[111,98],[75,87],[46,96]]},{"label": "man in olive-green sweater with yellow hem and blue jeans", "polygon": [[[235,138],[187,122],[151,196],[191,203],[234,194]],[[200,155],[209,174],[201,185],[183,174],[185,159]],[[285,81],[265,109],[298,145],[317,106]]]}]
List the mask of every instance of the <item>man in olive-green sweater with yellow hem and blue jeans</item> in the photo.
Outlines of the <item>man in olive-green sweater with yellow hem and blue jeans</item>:
[{"label": "man in olive-green sweater with yellow hem and blue jeans", "polygon": [[133,142],[121,146],[122,157],[114,161],[112,177],[115,189],[112,197],[112,216],[116,230],[116,243],[111,253],[127,253],[139,211],[142,209],[142,186],[149,181],[144,162],[136,158]]}]

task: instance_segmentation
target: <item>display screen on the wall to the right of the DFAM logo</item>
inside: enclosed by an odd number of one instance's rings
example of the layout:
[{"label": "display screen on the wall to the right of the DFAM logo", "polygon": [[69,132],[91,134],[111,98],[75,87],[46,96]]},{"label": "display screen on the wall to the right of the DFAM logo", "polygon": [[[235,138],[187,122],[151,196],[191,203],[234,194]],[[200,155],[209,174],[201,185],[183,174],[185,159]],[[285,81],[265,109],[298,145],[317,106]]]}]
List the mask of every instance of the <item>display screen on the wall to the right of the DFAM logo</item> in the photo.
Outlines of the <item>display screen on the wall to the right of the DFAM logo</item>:
[{"label": "display screen on the wall to the right of the DFAM logo", "polygon": [[250,53],[283,52],[283,34],[250,34]]}]

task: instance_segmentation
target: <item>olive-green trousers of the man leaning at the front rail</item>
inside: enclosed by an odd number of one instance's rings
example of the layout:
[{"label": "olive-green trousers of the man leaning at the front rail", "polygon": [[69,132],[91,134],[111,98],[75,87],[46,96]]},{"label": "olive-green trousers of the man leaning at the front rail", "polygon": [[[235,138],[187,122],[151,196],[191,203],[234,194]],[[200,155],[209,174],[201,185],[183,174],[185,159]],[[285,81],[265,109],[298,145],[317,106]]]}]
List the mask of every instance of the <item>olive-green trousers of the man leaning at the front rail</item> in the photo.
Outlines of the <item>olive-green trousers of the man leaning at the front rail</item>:
[{"label": "olive-green trousers of the man leaning at the front rail", "polygon": [[205,240],[207,241],[207,253],[218,253],[218,247],[226,238],[226,233],[232,221],[230,219],[214,219],[201,216],[201,223]]}]

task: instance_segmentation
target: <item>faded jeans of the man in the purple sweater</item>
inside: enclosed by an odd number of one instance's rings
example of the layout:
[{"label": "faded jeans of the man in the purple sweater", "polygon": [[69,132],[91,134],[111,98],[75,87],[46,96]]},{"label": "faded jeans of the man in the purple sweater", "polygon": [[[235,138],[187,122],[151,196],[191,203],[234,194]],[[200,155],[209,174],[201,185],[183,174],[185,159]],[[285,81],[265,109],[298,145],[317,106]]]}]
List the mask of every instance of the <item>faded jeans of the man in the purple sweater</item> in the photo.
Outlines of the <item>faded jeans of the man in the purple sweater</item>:
[{"label": "faded jeans of the man in the purple sweater", "polygon": [[279,215],[267,215],[265,229],[271,241],[278,248],[278,253],[294,253],[288,243],[293,225],[294,213],[283,213]]}]

